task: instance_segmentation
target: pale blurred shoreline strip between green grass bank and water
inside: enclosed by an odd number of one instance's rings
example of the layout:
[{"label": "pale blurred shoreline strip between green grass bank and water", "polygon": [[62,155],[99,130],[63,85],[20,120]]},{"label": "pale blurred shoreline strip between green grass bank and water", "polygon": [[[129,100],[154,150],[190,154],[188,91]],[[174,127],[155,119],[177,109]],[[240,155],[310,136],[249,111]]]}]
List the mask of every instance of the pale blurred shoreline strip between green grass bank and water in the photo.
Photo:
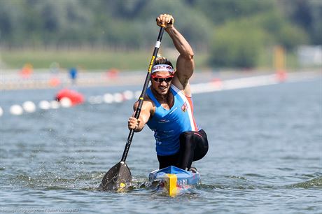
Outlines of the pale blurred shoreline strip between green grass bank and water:
[{"label": "pale blurred shoreline strip between green grass bank and water", "polygon": [[[221,80],[250,78],[255,76],[274,75],[272,71],[199,71],[195,72],[191,83],[209,83]],[[290,75],[288,75],[290,74]],[[69,78],[69,73],[50,73],[48,71],[34,71],[29,76],[20,72],[1,71],[0,90],[35,90],[61,87],[111,87],[122,85],[141,85],[144,83],[146,71],[116,72],[104,71],[80,72],[75,83]],[[278,75],[278,73],[277,73]],[[293,71],[285,75],[305,78],[306,76],[322,76],[322,71]],[[287,78],[287,76],[286,76]]]}]

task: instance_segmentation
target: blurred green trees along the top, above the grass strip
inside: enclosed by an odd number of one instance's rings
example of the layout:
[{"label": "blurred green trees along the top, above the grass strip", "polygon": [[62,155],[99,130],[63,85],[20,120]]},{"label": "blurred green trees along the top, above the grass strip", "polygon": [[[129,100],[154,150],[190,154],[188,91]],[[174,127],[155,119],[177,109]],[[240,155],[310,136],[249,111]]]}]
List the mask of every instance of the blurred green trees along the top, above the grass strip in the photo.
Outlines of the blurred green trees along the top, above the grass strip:
[{"label": "blurred green trees along the top, above the grass strip", "polygon": [[322,43],[319,0],[0,0],[0,45],[146,49],[160,13],[211,66],[254,67],[274,45]]}]

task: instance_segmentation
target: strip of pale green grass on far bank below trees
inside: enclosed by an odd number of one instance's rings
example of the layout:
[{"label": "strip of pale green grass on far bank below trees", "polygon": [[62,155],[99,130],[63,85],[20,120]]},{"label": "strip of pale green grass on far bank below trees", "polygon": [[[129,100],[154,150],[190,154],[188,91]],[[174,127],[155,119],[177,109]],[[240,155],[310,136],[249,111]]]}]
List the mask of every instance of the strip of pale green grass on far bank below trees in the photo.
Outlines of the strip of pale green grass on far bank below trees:
[{"label": "strip of pale green grass on far bank below trees", "polygon": [[[114,51],[114,50],[10,50],[0,55],[5,67],[20,69],[31,64],[34,69],[49,69],[57,62],[61,68],[78,67],[84,71],[118,69],[123,71],[145,71],[153,50]],[[162,48],[161,51],[162,52]],[[176,55],[164,52],[172,62]],[[163,54],[162,54],[163,55]],[[205,69],[207,55],[195,55],[197,69]]]}]

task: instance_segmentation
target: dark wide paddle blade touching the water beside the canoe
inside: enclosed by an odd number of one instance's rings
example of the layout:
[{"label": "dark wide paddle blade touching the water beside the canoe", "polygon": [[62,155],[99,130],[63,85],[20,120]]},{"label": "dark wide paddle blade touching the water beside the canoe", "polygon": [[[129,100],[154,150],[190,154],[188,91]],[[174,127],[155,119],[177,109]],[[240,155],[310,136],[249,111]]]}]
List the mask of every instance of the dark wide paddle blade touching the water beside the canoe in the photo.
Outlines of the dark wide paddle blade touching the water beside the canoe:
[{"label": "dark wide paddle blade touching the water beside the canoe", "polygon": [[118,162],[105,174],[101,185],[99,185],[99,190],[120,192],[130,186],[131,181],[132,176],[127,164]]}]

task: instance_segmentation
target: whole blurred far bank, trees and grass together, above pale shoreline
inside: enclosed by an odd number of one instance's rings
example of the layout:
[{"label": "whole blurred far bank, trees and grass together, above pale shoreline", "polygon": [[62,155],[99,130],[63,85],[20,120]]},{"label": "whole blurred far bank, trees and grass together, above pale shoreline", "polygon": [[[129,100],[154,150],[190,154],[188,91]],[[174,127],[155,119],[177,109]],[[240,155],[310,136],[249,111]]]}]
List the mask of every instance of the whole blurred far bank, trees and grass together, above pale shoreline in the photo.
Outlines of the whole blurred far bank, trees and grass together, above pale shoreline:
[{"label": "whole blurred far bank, trees and grass together, above pale shoreline", "polygon": [[174,16],[199,70],[321,69],[319,0],[0,0],[0,68],[146,70],[160,13]]}]

